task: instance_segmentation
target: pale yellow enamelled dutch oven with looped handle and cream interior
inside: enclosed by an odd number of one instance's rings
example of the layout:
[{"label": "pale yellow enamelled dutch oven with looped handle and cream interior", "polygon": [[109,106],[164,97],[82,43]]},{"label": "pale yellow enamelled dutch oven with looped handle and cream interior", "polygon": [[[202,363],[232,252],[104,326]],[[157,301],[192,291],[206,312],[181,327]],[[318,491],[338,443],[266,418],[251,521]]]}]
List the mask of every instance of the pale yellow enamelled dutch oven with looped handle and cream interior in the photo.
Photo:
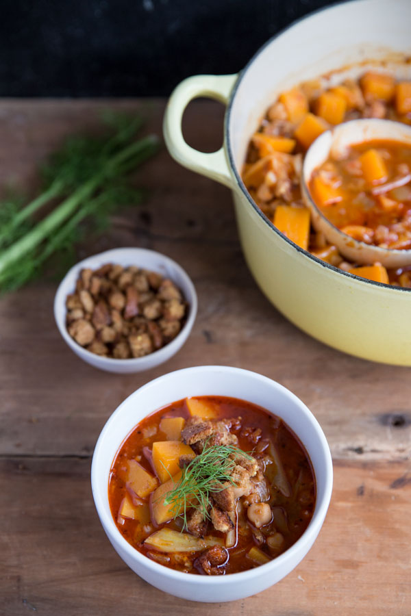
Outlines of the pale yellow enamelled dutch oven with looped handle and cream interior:
[{"label": "pale yellow enamelled dutch oven with looped handle and cream interior", "polygon": [[[249,196],[240,174],[247,144],[278,94],[329,75],[329,85],[383,64],[411,78],[411,1],[357,0],[303,18],[267,42],[238,75],[198,75],[171,95],[164,138],[182,165],[232,189],[247,264],[260,288],[292,323],[352,355],[411,365],[411,290],[360,279],[303,251]],[[223,147],[206,154],[182,136],[196,97],[227,104]]]}]

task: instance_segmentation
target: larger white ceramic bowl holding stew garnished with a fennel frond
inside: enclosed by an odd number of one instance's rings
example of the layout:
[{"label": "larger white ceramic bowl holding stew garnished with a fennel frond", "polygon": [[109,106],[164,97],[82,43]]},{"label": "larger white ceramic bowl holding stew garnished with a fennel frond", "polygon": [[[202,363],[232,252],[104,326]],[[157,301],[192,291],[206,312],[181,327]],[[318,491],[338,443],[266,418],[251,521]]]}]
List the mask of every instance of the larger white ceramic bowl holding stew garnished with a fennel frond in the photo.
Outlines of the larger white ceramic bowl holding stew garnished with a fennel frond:
[{"label": "larger white ceramic bowl holding stew garnished with a fennel frond", "polygon": [[[266,565],[227,576],[177,572],[140,554],[122,537],[110,513],[108,478],[123,440],[147,415],[186,396],[232,396],[264,407],[286,422],[306,447],[316,477],[316,505],[303,535]],[[97,441],[91,467],[92,494],[101,524],[112,546],[136,574],[156,588],[183,599],[223,602],[269,588],[306,556],[314,543],[332,492],[332,459],[323,431],[306,405],[270,378],[227,366],[198,366],[155,378],[129,396],[112,414]]]}]

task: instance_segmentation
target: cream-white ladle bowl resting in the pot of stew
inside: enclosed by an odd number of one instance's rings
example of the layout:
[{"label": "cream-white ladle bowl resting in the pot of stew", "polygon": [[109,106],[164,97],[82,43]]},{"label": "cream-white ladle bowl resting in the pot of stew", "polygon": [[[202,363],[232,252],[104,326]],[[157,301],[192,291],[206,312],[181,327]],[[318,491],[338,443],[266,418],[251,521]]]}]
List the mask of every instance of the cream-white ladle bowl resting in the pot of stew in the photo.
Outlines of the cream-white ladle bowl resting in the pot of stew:
[{"label": "cream-white ladle bowl resting in the pot of stew", "polygon": [[411,250],[381,248],[351,238],[329,222],[314,203],[308,188],[312,172],[321,166],[330,154],[333,157],[338,156],[338,153],[344,153],[349,146],[374,140],[399,141],[411,148],[411,126],[392,120],[370,118],[351,120],[325,131],[312,143],[306,153],[301,175],[301,192],[304,202],[311,211],[314,229],[321,231],[328,242],[334,244],[344,257],[359,264],[373,264],[379,261],[387,268],[407,266],[411,264]]}]

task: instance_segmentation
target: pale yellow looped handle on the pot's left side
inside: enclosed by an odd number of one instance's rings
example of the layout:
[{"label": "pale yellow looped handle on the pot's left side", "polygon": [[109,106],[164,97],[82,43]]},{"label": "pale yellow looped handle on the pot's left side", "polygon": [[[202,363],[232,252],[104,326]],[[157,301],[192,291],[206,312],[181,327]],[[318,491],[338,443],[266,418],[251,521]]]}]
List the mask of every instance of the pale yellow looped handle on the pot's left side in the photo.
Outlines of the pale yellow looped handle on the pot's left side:
[{"label": "pale yellow looped handle on the pot's left side", "polygon": [[195,75],[175,88],[166,107],[163,133],[171,156],[184,167],[232,188],[233,179],[224,147],[210,154],[190,147],[182,133],[184,110],[192,99],[208,97],[226,103],[238,75]]}]

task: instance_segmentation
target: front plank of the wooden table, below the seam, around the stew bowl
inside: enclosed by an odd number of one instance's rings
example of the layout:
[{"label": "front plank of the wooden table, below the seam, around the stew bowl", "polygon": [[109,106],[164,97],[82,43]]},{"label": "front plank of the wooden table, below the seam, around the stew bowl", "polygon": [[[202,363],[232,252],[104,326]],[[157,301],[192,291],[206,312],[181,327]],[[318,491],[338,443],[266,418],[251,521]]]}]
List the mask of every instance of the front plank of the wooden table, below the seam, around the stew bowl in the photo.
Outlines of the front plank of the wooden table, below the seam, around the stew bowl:
[{"label": "front plank of the wooden table, below the seam, around the stew bowl", "polygon": [[23,614],[32,606],[42,616],[190,616],[216,609],[220,616],[409,616],[408,468],[336,464],[332,504],[306,559],[275,587],[212,606],[166,595],[121,561],[92,504],[90,460],[3,460],[1,562],[7,567],[0,569],[0,614]]}]

